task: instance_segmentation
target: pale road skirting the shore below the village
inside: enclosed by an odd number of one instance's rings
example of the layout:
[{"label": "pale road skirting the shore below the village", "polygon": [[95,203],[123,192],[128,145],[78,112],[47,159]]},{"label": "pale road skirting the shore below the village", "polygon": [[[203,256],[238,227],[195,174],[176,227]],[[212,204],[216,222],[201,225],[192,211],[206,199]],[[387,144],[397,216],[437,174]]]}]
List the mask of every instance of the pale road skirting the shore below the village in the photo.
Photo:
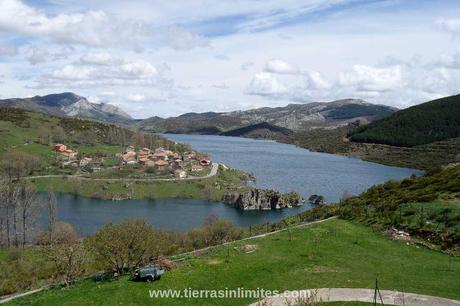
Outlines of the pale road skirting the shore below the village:
[{"label": "pale road skirting the shore below the village", "polygon": [[91,178],[86,177],[81,174],[79,175],[36,175],[36,176],[26,176],[25,179],[28,180],[35,180],[35,179],[43,179],[43,178],[72,178],[72,179],[79,179],[79,180],[90,180],[90,181],[123,181],[123,182],[161,182],[161,181],[191,181],[191,180],[203,180],[213,176],[216,176],[219,170],[219,164],[214,163],[211,166],[211,171],[209,174],[205,176],[189,176],[186,178],[168,178],[168,179],[149,179],[149,178]]}]

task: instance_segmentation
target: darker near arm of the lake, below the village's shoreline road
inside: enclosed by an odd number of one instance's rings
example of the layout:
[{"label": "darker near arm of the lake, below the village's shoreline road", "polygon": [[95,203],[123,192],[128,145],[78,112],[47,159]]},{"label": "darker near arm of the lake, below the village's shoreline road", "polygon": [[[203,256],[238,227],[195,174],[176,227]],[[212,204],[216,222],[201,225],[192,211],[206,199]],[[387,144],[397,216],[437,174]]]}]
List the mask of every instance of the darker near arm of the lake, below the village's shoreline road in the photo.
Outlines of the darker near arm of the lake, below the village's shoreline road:
[{"label": "darker near arm of the lake, below the village's shoreline road", "polygon": [[[156,228],[184,231],[203,225],[210,217],[232,220],[238,226],[266,223],[307,209],[241,211],[221,202],[193,199],[110,201],[56,194],[59,220],[72,224],[81,235],[95,233],[104,224],[127,218],[145,219]],[[43,216],[41,224],[46,225]]]}]

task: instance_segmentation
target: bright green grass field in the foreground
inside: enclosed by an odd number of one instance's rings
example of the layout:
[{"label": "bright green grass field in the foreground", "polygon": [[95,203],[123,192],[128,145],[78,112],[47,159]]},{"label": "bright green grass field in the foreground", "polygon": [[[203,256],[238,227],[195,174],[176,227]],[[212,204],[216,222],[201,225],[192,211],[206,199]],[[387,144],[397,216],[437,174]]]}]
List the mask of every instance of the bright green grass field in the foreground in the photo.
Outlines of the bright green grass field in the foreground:
[{"label": "bright green grass field in the foreground", "polygon": [[[80,281],[17,299],[16,305],[247,305],[253,299],[151,299],[149,290],[373,288],[460,299],[460,259],[404,242],[368,227],[329,220],[264,238],[220,246],[185,258],[154,283]],[[244,253],[245,244],[256,251]],[[332,305],[342,305],[336,303]],[[345,304],[355,305],[355,304]]]}]

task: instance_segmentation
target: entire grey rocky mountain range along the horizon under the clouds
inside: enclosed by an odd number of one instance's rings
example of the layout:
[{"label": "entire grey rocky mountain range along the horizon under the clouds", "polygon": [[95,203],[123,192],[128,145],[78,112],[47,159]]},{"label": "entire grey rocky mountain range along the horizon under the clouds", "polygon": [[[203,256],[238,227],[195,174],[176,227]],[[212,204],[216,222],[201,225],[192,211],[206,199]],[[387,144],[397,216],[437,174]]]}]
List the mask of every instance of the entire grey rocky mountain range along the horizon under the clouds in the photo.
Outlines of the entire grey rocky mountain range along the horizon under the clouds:
[{"label": "entire grey rocky mountain range along the horizon under the clouds", "polygon": [[335,128],[359,120],[363,124],[390,115],[397,109],[358,99],[289,104],[233,112],[186,113],[177,117],[135,120],[120,108],[91,103],[85,97],[66,92],[31,98],[0,100],[0,106],[39,111],[130,126],[151,133],[184,133],[276,138],[292,132]]}]

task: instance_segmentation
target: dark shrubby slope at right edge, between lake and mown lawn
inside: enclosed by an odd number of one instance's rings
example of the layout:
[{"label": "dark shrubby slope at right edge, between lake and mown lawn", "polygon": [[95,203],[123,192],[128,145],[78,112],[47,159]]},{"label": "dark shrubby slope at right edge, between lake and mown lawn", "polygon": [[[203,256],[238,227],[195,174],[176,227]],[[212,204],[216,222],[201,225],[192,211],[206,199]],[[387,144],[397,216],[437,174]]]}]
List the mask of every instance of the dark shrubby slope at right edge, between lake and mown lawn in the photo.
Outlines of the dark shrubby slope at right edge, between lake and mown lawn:
[{"label": "dark shrubby slope at right edge, between lake and mown lawn", "polygon": [[376,185],[341,203],[344,218],[395,226],[444,248],[460,246],[460,166]]}]

